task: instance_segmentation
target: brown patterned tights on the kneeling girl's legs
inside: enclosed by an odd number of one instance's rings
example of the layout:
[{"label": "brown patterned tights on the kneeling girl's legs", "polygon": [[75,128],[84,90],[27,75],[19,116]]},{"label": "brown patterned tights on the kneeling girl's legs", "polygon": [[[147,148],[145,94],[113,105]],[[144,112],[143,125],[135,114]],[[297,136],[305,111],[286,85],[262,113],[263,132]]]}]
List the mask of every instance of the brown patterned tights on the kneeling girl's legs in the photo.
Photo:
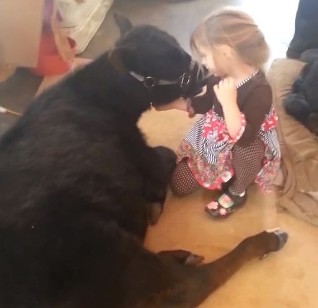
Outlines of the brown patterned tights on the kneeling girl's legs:
[{"label": "brown patterned tights on the kneeling girl's legs", "polygon": [[[233,147],[234,176],[231,179],[230,191],[241,194],[246,191],[262,169],[265,147],[257,138],[246,148]],[[173,172],[171,180],[172,192],[176,195],[186,195],[200,187],[187,164],[187,158],[181,160]]]}]

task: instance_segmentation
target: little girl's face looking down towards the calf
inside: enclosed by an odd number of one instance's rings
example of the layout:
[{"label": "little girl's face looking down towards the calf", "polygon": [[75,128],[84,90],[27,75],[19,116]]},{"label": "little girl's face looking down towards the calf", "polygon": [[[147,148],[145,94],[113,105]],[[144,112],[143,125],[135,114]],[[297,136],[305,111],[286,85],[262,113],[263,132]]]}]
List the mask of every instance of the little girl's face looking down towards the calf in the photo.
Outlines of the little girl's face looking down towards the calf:
[{"label": "little girl's face looking down towards the calf", "polygon": [[228,75],[231,59],[224,46],[212,48],[204,44],[197,44],[197,51],[201,57],[202,64],[214,76],[224,77]]}]

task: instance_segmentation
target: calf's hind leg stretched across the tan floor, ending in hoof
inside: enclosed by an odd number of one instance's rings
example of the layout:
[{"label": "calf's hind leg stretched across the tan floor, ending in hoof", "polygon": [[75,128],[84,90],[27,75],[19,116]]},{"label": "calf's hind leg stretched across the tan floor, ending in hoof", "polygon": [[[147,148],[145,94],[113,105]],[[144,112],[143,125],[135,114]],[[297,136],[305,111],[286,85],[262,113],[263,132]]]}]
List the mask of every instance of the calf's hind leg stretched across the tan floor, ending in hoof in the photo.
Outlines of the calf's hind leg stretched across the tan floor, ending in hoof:
[{"label": "calf's hind leg stretched across the tan floor, ending in hoof", "polygon": [[[280,250],[287,234],[278,230],[262,232],[243,240],[227,255],[201,266],[184,265],[184,277],[162,296],[161,308],[194,308],[224,284],[245,263]],[[172,275],[176,273],[176,271]]]}]

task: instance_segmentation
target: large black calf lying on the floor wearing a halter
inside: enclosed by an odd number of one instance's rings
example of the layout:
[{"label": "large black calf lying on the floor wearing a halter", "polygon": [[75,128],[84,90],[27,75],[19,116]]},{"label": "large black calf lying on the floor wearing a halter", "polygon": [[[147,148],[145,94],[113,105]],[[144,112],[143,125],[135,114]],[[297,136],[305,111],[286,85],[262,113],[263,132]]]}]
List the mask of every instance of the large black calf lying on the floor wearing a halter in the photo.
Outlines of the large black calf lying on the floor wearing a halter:
[{"label": "large black calf lying on the floor wearing a halter", "polygon": [[150,102],[195,95],[203,76],[167,33],[117,20],[115,48],[35,98],[0,141],[0,307],[194,307],[286,241],[262,233],[200,266],[143,248],[175,156],[136,121]]}]

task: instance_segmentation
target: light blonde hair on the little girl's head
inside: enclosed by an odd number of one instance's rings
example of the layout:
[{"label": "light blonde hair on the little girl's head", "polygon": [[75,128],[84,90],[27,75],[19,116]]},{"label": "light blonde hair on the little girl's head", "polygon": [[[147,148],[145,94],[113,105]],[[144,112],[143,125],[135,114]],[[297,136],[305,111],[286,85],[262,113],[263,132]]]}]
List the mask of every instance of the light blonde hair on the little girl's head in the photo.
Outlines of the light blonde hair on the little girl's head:
[{"label": "light blonde hair on the little girl's head", "polygon": [[214,11],[196,27],[190,46],[194,53],[200,53],[197,45],[229,45],[244,63],[262,68],[269,57],[269,48],[264,35],[254,20],[235,8]]}]

